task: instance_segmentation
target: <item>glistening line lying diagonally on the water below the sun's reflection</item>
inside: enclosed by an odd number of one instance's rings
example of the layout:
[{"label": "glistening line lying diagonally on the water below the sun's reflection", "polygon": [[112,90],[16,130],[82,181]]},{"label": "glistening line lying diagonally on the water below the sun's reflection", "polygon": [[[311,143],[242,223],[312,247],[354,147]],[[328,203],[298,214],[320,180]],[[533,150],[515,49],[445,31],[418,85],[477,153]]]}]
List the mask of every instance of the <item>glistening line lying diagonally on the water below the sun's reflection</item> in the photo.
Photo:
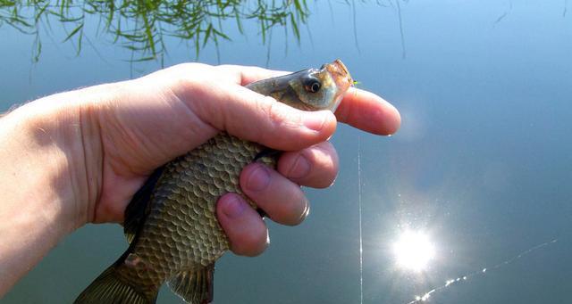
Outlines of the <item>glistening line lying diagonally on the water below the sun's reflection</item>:
[{"label": "glistening line lying diagonally on the water below the sun's reflection", "polygon": [[408,302],[407,304],[416,304],[416,303],[425,302],[426,300],[429,300],[429,298],[433,295],[433,293],[442,292],[443,289],[450,287],[452,285],[458,285],[459,283],[464,283],[464,282],[470,280],[471,278],[473,278],[475,276],[483,276],[483,275],[486,275],[487,273],[490,273],[491,271],[498,270],[501,267],[505,267],[509,264],[514,263],[517,259],[521,259],[521,258],[525,257],[526,255],[532,253],[533,251],[538,251],[540,249],[543,249],[546,246],[549,246],[555,242],[558,242],[558,240],[559,239],[553,239],[553,240],[548,241],[548,242],[540,243],[538,245],[535,245],[535,246],[527,249],[526,251],[521,251],[517,255],[514,255],[509,259],[505,259],[501,263],[496,264],[492,267],[483,267],[481,270],[472,272],[470,274],[461,275],[461,276],[458,276],[456,279],[447,280],[441,286],[435,287],[432,290],[430,290],[429,292],[425,292],[422,296],[416,296],[415,300],[412,300],[412,301]]}]

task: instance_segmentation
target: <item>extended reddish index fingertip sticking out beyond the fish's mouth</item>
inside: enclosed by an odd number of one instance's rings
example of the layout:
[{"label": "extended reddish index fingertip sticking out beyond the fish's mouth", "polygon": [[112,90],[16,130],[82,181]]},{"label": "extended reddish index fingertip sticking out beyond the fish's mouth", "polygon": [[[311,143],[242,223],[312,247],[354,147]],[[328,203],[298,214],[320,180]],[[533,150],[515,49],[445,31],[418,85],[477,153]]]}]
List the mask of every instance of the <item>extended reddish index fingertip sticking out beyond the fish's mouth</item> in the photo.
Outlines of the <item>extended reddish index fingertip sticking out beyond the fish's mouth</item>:
[{"label": "extended reddish index fingertip sticking out beyond the fish's mouth", "polygon": [[353,127],[377,135],[390,135],[400,128],[400,112],[382,97],[350,87],[336,117]]}]

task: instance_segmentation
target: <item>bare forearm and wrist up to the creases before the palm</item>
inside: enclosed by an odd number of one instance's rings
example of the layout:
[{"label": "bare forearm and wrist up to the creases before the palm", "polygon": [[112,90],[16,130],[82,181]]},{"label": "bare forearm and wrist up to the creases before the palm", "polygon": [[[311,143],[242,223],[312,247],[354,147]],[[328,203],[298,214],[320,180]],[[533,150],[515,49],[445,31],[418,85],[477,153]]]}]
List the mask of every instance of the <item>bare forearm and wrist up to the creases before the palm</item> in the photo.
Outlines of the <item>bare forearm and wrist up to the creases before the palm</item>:
[{"label": "bare forearm and wrist up to the creases before the palm", "polygon": [[50,95],[0,118],[0,297],[93,220],[103,160],[97,104],[109,88]]}]

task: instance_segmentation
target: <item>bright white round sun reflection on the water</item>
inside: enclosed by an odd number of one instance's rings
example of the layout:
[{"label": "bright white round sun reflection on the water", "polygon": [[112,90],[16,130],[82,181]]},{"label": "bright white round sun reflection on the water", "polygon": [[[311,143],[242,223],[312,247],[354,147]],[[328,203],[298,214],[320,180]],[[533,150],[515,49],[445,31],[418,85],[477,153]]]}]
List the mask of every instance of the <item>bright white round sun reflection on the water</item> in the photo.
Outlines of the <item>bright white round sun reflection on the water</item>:
[{"label": "bright white round sun reflection on the water", "polygon": [[393,244],[393,254],[400,267],[420,272],[435,257],[435,248],[426,234],[406,231]]}]

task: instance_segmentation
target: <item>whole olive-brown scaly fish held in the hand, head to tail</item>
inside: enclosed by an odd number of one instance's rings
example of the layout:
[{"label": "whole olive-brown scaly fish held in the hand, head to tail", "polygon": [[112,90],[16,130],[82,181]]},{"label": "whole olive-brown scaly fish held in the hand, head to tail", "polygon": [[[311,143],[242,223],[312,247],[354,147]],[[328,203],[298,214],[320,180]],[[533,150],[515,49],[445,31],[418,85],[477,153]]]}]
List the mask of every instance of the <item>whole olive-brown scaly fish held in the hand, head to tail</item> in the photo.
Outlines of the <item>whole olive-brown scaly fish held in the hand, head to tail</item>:
[{"label": "whole olive-brown scaly fish held in the hand, head to tail", "polygon": [[[352,84],[346,66],[335,60],[246,87],[303,111],[335,111]],[[156,303],[165,282],[187,303],[210,303],[214,262],[229,250],[216,201],[239,193],[256,209],[240,190],[240,171],[253,161],[275,168],[277,157],[261,144],[221,132],[157,168],[125,210],[129,248],[74,303]]]}]

